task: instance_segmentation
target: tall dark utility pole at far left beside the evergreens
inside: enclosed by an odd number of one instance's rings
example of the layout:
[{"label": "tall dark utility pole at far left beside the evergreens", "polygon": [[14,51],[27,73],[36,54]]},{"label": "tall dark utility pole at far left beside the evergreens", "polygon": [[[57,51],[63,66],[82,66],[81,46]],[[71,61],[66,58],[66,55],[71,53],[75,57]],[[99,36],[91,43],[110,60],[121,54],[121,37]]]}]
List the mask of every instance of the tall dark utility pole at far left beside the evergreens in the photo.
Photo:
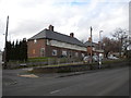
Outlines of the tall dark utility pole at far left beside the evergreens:
[{"label": "tall dark utility pole at far left beside the evergreens", "polygon": [[9,15],[8,15],[8,17],[7,17],[7,29],[5,29],[4,69],[7,68],[7,40],[8,40],[8,28],[9,28]]}]

